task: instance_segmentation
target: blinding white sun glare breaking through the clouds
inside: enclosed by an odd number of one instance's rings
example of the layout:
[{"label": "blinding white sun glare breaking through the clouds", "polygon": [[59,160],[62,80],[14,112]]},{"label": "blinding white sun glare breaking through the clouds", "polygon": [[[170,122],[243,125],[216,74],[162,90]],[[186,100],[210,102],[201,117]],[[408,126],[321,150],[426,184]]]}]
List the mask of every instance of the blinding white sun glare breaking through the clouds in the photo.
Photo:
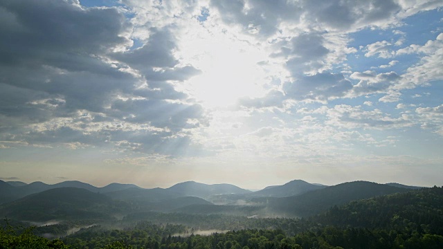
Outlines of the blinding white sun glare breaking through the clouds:
[{"label": "blinding white sun glare breaking through the clouds", "polygon": [[239,98],[264,95],[266,75],[258,62],[266,55],[257,47],[210,37],[186,49],[192,66],[201,71],[188,80],[188,93],[204,107],[230,107]]}]

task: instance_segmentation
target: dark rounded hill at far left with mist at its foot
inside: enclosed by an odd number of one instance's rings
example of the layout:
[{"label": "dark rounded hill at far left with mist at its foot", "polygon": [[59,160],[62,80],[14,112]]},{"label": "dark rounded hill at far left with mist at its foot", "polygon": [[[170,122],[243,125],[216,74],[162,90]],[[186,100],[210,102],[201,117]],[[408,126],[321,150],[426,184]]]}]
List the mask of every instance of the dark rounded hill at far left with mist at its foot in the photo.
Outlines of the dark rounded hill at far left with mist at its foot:
[{"label": "dark rounded hill at far left with mist at its foot", "polygon": [[[0,213],[12,219],[49,221],[53,219],[112,220],[115,202],[104,194],[75,187],[60,187],[4,203]],[[123,204],[123,203],[118,203]]]}]

